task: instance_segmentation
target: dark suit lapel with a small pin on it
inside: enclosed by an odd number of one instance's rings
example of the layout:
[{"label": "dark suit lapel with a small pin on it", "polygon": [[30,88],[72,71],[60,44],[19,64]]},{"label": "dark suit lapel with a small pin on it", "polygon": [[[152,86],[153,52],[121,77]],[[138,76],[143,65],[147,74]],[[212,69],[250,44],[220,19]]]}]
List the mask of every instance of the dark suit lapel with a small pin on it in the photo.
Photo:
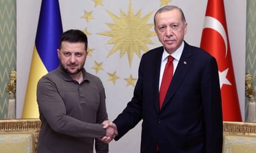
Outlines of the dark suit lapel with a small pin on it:
[{"label": "dark suit lapel with a small pin on it", "polygon": [[181,58],[179,59],[177,68],[172,77],[172,82],[166,93],[166,97],[162,105],[162,109],[164,109],[167,102],[172,98],[173,94],[176,92],[177,88],[181,84],[191,64],[192,64],[192,50],[189,47],[189,45],[185,42],[185,46],[184,46]]}]

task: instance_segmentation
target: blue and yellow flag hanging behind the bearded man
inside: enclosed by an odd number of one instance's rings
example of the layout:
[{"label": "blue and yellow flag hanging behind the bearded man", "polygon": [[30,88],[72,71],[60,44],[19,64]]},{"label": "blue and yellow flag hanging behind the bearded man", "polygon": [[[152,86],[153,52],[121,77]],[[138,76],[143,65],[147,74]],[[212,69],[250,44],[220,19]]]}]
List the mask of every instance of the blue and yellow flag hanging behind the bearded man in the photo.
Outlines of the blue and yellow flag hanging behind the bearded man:
[{"label": "blue and yellow flag hanging behind the bearded man", "polygon": [[39,118],[37,82],[59,65],[57,49],[62,32],[58,0],[42,0],[22,118]]}]

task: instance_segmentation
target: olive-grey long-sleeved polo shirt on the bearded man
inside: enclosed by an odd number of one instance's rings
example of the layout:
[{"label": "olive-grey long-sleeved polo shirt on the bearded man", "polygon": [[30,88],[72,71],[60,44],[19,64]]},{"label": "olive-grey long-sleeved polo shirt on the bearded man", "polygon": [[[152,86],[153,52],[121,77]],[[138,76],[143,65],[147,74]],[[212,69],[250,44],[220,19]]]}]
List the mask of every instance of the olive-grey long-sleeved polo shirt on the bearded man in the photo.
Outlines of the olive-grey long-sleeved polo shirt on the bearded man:
[{"label": "olive-grey long-sleeved polo shirt on the bearded man", "polygon": [[[106,135],[105,90],[100,78],[83,68],[79,84],[59,66],[37,84],[37,103],[42,122],[37,153],[92,153],[94,138]],[[98,153],[108,144],[95,139]]]}]

